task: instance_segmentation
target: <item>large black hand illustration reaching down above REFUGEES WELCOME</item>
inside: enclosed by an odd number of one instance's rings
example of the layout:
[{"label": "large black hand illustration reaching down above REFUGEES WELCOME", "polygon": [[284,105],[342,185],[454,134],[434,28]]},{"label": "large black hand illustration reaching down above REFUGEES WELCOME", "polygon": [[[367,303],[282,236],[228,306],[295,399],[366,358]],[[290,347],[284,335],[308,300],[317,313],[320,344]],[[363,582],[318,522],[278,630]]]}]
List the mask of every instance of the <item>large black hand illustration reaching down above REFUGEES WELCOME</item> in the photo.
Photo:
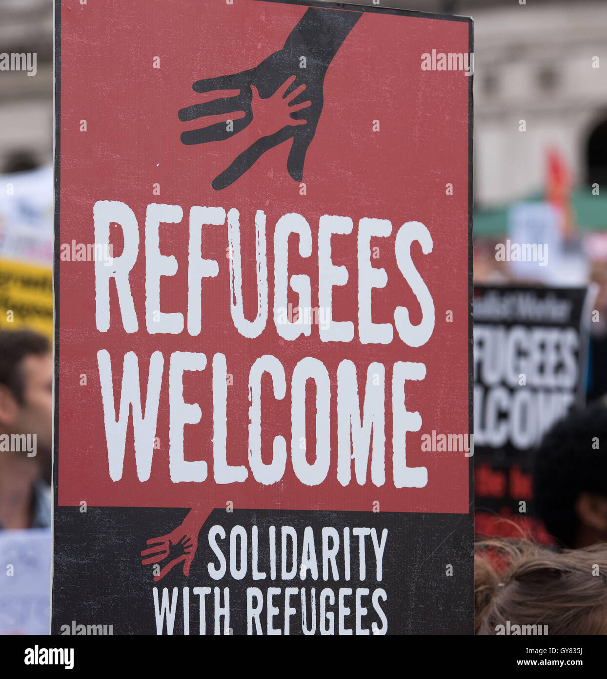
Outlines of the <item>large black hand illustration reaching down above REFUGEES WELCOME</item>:
[{"label": "large black hand illustration reaching down above REFUGEES WELCOME", "polygon": [[[301,181],[307,149],[315,134],[323,107],[323,83],[327,69],[362,12],[320,9],[310,7],[290,33],[283,48],[274,52],[260,65],[233,75],[220,75],[195,82],[195,92],[216,90],[240,90],[236,96],[224,96],[207,103],[195,104],[179,111],[182,121],[197,120],[210,115],[224,115],[244,111],[244,117],[235,116],[233,130],[225,122],[219,122],[183,132],[184,144],[203,144],[221,141],[237,134],[252,122],[252,90],[255,86],[262,98],[272,96],[293,74],[296,78],[286,96],[305,85],[293,105],[310,100],[311,105],[292,113],[294,120],[305,119],[307,124],[286,125],[269,136],[260,137],[248,149],[240,153],[234,162],[212,182],[214,189],[231,185],[260,158],[262,153],[294,137],[287,161],[287,169],[295,181]],[[305,68],[302,68],[305,58]],[[227,118],[226,118],[227,120]]]}]

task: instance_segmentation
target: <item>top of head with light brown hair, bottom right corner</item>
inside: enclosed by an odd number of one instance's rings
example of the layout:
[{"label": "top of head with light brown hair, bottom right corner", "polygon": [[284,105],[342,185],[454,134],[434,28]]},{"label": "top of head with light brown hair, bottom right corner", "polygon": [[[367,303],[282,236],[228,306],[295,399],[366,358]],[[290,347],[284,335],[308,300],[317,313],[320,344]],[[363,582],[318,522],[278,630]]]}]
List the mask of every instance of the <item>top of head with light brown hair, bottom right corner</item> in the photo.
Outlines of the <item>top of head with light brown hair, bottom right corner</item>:
[{"label": "top of head with light brown hair, bottom right corner", "polygon": [[[486,540],[474,559],[475,633],[607,634],[607,545],[555,552]],[[518,625],[516,630],[514,625]]]}]

